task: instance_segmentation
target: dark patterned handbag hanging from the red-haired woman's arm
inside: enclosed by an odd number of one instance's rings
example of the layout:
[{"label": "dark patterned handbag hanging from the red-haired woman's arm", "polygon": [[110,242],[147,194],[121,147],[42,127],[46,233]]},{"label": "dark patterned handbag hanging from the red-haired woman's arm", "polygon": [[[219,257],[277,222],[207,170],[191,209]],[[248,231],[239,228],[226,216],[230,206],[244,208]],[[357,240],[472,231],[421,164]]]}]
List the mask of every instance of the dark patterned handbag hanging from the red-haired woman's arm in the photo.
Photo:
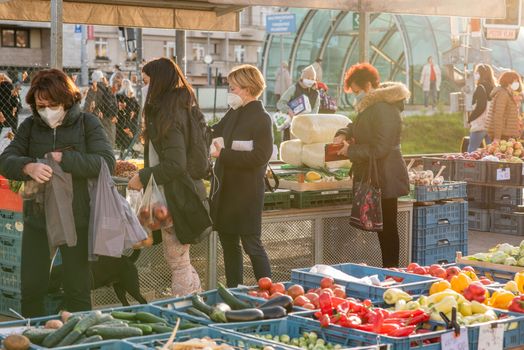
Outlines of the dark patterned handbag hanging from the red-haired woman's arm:
[{"label": "dark patterned handbag hanging from the red-haired woman's arm", "polygon": [[381,197],[377,163],[374,158],[371,158],[366,176],[355,186],[351,207],[351,226],[363,231],[382,231],[384,225]]}]

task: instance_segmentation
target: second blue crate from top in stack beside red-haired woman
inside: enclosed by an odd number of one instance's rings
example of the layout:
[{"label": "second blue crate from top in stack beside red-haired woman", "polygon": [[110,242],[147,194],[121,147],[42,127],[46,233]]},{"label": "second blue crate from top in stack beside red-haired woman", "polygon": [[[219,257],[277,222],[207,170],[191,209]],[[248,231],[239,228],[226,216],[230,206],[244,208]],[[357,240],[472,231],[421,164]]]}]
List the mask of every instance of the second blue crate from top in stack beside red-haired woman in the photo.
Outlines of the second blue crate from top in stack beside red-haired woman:
[{"label": "second blue crate from top in stack beside red-haired woman", "polygon": [[467,221],[468,202],[413,208],[413,227],[415,229],[425,229],[438,224],[463,224]]}]

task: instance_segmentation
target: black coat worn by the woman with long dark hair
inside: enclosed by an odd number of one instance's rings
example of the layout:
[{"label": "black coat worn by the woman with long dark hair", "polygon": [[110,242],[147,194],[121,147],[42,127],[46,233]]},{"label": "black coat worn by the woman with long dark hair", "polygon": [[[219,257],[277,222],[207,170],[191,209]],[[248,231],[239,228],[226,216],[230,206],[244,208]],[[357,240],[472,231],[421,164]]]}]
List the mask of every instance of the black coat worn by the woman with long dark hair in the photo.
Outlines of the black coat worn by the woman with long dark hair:
[{"label": "black coat worn by the woman with long dark hair", "polygon": [[146,142],[145,168],[139,172],[140,182],[146,187],[153,175],[156,183],[164,186],[167,206],[173,216],[173,225],[178,240],[182,244],[196,243],[211,232],[212,223],[205,204],[206,193],[203,181],[193,180],[187,171],[187,154],[191,135],[188,118],[192,116],[187,109],[177,109],[175,122],[162,136],[158,136],[156,125],[158,113],[161,111],[149,108],[146,110],[148,138],[160,162],[150,167],[149,142]]}]

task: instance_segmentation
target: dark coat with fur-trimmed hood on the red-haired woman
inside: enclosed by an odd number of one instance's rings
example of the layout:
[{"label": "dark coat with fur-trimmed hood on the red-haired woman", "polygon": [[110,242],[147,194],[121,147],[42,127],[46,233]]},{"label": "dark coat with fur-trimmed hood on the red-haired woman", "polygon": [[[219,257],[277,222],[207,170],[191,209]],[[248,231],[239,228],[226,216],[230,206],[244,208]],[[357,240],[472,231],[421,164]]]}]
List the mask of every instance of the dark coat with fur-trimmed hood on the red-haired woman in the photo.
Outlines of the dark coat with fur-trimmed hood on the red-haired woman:
[{"label": "dark coat with fur-trimmed hood on the red-haired woman", "polygon": [[406,164],[400,152],[400,133],[404,100],[409,90],[401,83],[384,83],[369,92],[357,104],[357,118],[351,128],[338,134],[354,137],[348,157],[353,163],[353,183],[367,177],[369,160],[377,162],[379,184],[383,198],[398,198],[409,193]]}]

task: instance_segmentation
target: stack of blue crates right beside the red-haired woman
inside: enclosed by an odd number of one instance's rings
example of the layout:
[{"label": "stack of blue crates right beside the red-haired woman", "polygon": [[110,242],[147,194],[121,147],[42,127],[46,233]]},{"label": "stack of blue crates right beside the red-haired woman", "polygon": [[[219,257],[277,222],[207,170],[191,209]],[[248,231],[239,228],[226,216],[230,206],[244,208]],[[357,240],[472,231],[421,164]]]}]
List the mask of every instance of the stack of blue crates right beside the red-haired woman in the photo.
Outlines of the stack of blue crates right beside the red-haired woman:
[{"label": "stack of blue crates right beside the red-haired woman", "polygon": [[466,183],[415,186],[412,261],[421,265],[450,263],[457,251],[467,252]]}]

